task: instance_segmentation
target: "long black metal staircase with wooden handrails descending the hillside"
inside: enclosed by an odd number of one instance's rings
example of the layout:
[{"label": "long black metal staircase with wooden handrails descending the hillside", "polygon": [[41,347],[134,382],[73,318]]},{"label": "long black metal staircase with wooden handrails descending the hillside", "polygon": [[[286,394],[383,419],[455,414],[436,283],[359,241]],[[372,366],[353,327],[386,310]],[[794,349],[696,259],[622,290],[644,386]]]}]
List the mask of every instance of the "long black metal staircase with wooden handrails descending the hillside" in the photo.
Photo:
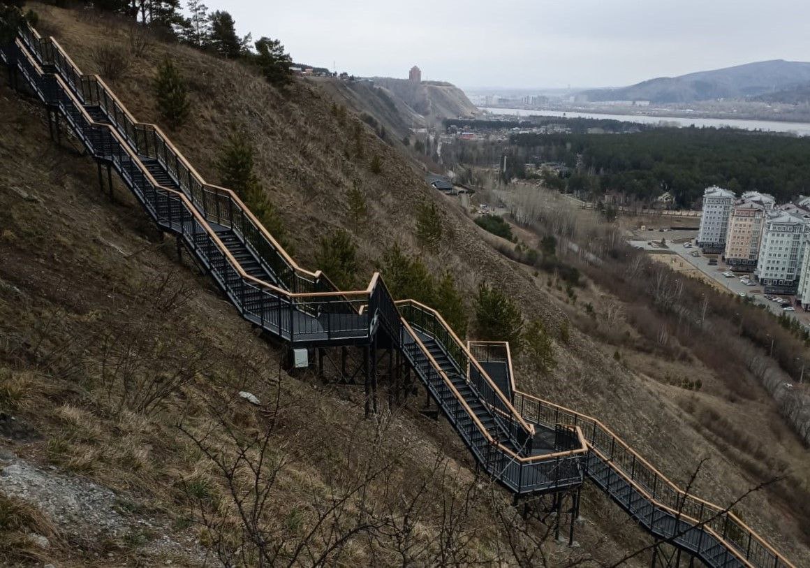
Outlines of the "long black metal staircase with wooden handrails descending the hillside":
[{"label": "long black metal staircase with wooden handrails descending the hillside", "polygon": [[[340,291],[298,267],[232,191],[205,182],[157,126],[139,123],[52,38],[23,28],[0,59],[61,116],[87,153],[118,174],[161,231],[173,233],[241,316],[293,348],[375,344],[401,353],[482,468],[516,497],[588,476],[648,532],[707,566],[792,565],[735,515],[688,495],[599,421],[514,390],[508,345],[463,344],[440,314],[394,302],[379,274]],[[475,355],[473,354],[475,353]]]}]

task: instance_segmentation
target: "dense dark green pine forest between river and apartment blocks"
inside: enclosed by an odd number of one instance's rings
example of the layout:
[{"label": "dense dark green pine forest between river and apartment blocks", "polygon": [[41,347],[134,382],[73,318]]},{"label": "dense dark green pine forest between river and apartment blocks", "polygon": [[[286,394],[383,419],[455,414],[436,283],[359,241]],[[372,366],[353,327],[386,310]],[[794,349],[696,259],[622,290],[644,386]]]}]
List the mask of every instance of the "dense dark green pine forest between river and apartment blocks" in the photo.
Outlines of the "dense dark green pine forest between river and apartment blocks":
[{"label": "dense dark green pine forest between river and apartment blocks", "polygon": [[670,191],[690,207],[706,186],[759,190],[787,201],[810,191],[810,140],[732,129],[664,128],[630,135],[514,135],[528,155],[553,150],[590,176],[569,186],[649,200]]}]

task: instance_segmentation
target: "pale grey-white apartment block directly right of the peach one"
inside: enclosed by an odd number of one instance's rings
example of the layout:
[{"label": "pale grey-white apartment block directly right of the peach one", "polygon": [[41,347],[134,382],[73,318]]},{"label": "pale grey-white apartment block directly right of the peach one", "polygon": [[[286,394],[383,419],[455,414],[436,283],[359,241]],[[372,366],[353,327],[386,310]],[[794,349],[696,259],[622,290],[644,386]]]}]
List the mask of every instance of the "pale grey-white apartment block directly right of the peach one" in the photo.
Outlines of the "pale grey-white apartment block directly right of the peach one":
[{"label": "pale grey-white apartment block directly right of the peach one", "polygon": [[791,204],[770,211],[765,218],[757,270],[754,271],[765,293],[797,292],[808,220],[810,211]]}]

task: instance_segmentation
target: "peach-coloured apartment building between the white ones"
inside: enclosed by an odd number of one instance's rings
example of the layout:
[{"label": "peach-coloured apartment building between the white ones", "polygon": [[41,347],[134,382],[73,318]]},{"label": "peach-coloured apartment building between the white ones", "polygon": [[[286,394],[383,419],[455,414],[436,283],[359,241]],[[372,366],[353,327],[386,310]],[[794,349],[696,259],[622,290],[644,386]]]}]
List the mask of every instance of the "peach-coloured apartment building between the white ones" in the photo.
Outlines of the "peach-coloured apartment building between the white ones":
[{"label": "peach-coloured apartment building between the white ones", "polygon": [[757,267],[765,216],[774,203],[771,195],[747,191],[731,208],[723,251],[731,270],[752,272]]}]

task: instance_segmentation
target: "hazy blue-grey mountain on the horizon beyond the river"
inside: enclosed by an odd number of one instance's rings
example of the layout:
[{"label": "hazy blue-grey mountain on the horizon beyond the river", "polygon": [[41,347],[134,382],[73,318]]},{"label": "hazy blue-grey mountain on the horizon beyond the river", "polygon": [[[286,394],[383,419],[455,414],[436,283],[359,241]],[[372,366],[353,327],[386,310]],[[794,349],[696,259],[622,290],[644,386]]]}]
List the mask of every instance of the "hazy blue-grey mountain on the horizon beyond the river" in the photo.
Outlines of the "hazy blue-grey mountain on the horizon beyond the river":
[{"label": "hazy blue-grey mountain on the horizon beyond the river", "polygon": [[650,100],[653,103],[689,103],[697,100],[739,99],[810,88],[810,62],[783,59],[747,63],[724,69],[699,71],[680,77],[659,77],[629,87],[590,89],[589,101]]}]

